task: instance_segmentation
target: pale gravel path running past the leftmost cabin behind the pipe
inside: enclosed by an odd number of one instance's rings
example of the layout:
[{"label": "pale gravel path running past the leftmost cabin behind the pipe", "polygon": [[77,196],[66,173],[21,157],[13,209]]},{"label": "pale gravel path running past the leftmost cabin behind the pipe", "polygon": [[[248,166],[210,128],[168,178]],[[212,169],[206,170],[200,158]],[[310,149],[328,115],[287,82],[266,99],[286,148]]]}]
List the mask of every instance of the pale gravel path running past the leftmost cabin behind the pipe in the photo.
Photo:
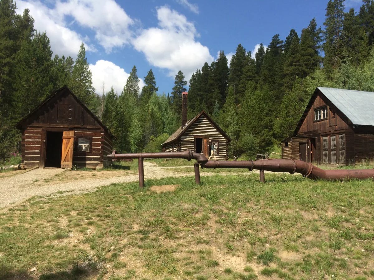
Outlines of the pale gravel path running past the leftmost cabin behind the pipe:
[{"label": "pale gravel path running past the leftmost cabin behind the pipe", "polygon": [[[165,177],[190,176],[187,172],[171,172],[168,168],[158,167],[151,162],[144,162],[144,178],[160,179]],[[68,192],[77,194],[90,192],[100,186],[107,186],[113,183],[126,183],[138,181],[138,174],[118,175],[110,178],[89,178],[81,180],[55,181],[45,183],[44,180],[64,172],[65,169],[34,169],[22,174],[11,175],[0,178],[0,212],[18,205],[35,195],[50,195],[56,192]],[[66,171],[70,172],[70,171]],[[103,171],[105,172],[105,171]]]}]

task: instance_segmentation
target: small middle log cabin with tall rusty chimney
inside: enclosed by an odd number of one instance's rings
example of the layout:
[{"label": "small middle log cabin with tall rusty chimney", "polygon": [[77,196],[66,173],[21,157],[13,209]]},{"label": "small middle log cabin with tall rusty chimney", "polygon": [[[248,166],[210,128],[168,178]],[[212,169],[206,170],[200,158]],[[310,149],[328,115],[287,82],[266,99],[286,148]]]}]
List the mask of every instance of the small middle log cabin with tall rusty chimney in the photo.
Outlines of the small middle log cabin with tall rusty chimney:
[{"label": "small middle log cabin with tall rusty chimney", "polygon": [[228,159],[227,146],[230,137],[202,111],[192,119],[187,120],[187,91],[182,93],[182,124],[162,143],[165,152],[178,152],[192,150],[202,153],[206,157],[211,154],[211,145],[214,144],[214,152],[217,160]]}]

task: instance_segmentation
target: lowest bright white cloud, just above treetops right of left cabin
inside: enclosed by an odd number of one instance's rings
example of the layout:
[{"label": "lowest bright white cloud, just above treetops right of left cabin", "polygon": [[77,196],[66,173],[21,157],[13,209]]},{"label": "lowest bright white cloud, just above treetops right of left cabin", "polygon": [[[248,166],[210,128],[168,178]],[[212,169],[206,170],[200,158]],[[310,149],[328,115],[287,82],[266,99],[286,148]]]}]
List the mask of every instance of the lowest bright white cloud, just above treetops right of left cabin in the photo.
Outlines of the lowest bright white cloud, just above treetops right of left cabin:
[{"label": "lowest bright white cloud, just above treetops right of left cabin", "polygon": [[[107,60],[98,60],[95,64],[89,66],[92,73],[92,84],[96,93],[102,95],[102,87],[104,84],[104,92],[107,93],[113,86],[114,91],[120,94],[130,74],[125,69],[120,68],[116,64]],[[144,87],[144,81],[139,79],[140,90]]]}]

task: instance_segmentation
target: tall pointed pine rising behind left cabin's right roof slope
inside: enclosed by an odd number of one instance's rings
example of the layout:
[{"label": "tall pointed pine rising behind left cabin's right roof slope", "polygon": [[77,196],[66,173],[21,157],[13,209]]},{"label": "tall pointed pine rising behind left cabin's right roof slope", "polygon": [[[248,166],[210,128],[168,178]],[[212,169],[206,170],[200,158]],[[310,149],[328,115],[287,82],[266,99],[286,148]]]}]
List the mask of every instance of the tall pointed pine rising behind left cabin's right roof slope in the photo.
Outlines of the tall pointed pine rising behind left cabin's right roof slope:
[{"label": "tall pointed pine rising behind left cabin's right roof slope", "polygon": [[69,87],[88,109],[93,113],[98,111],[99,105],[96,99],[95,88],[92,86],[92,73],[89,69],[86,49],[83,43],[80,45],[77,59],[75,60]]}]

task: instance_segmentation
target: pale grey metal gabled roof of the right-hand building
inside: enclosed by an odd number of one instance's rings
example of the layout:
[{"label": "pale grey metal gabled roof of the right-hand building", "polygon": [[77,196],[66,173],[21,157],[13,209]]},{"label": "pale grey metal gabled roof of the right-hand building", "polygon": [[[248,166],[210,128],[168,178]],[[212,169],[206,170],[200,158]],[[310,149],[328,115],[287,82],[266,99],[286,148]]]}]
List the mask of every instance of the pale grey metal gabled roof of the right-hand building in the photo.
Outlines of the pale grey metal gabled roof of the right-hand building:
[{"label": "pale grey metal gabled roof of the right-hand building", "polygon": [[317,87],[294,131],[297,133],[318,93],[324,95],[354,125],[374,126],[374,92]]}]

